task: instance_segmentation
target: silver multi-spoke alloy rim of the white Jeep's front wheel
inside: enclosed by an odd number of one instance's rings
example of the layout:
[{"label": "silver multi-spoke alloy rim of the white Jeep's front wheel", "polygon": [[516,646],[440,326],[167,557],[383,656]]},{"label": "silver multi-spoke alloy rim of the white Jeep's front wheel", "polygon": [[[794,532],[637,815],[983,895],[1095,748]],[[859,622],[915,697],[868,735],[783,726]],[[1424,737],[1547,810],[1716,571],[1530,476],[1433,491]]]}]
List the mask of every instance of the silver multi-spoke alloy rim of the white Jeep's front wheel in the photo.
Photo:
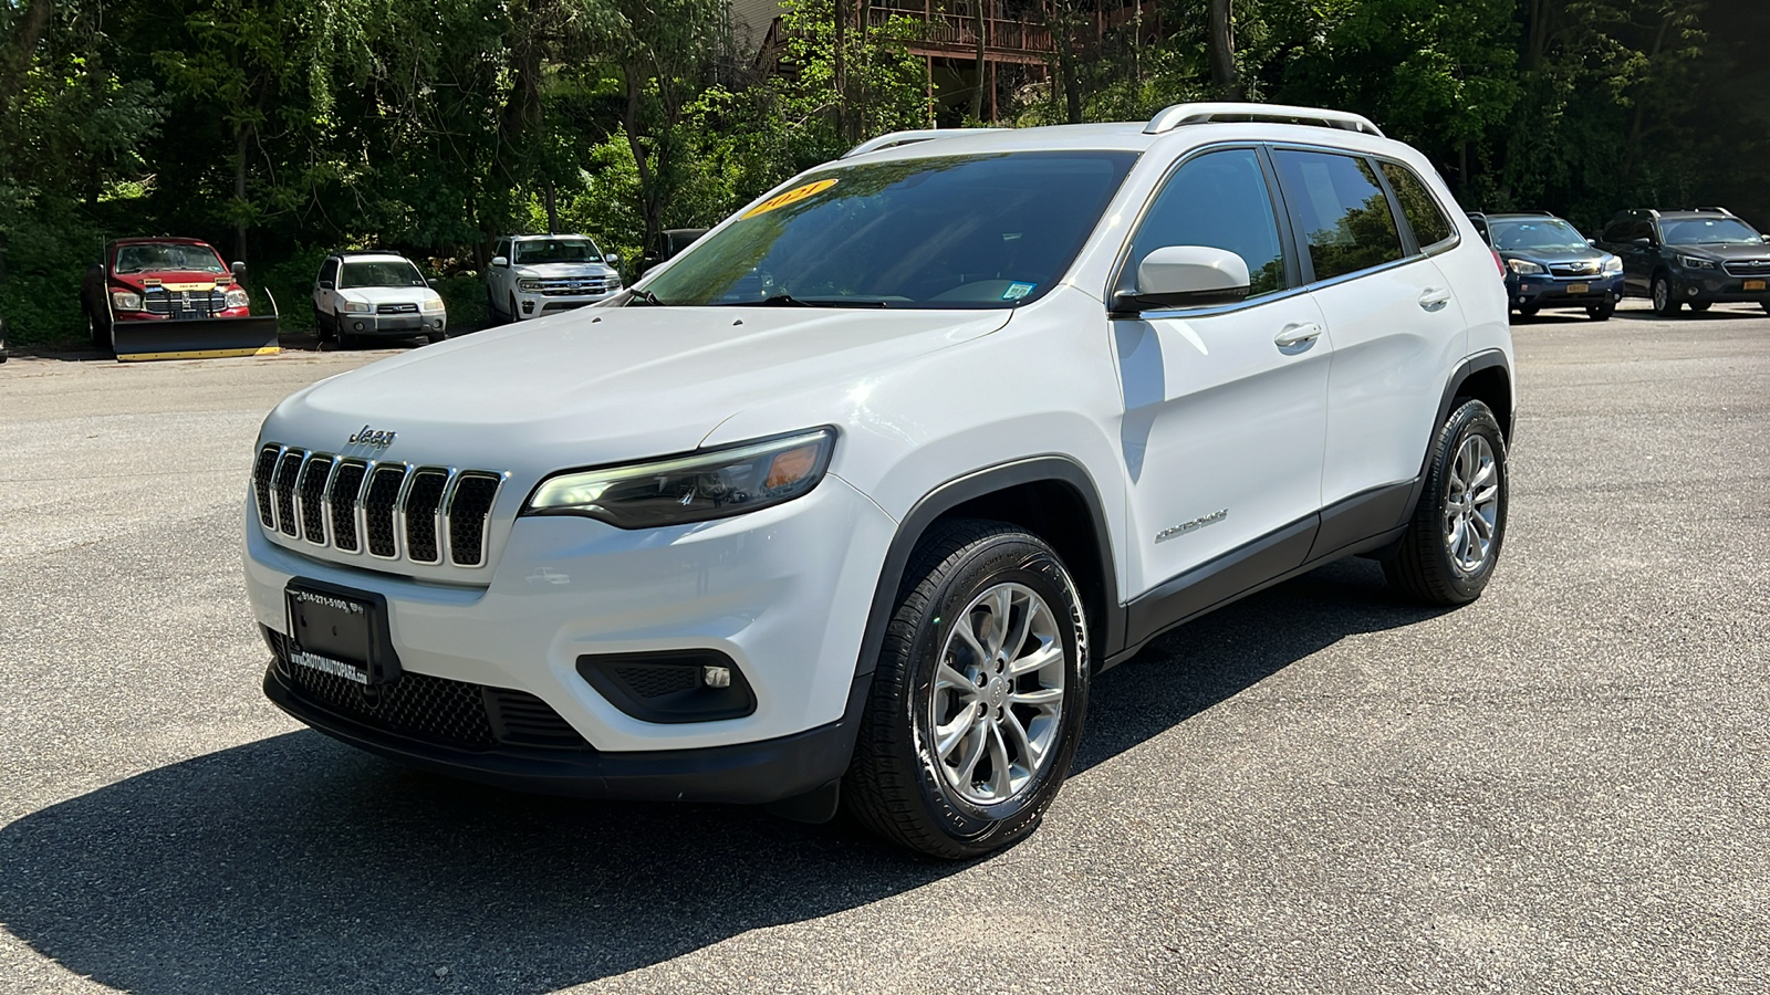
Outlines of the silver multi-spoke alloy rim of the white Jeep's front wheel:
[{"label": "silver multi-spoke alloy rim of the white Jeep's front wheel", "polygon": [[995,806],[1057,752],[1064,712],[1058,618],[1032,588],[993,584],[959,613],[931,696],[933,749],[947,786]]}]

